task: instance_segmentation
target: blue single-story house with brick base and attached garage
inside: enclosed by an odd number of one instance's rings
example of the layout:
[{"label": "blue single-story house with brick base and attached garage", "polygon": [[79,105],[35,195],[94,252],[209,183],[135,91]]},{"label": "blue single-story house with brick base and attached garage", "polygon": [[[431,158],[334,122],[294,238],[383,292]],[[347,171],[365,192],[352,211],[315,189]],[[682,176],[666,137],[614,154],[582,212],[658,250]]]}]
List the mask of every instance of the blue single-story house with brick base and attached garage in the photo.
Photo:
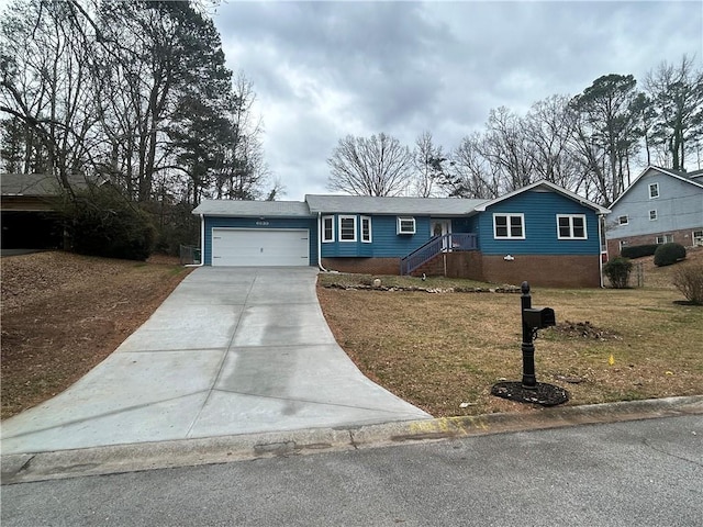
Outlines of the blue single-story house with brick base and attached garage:
[{"label": "blue single-story house with brick base and attached garage", "polygon": [[610,211],[548,181],[495,200],[306,195],[205,200],[205,266],[319,266],[518,284],[599,287]]}]

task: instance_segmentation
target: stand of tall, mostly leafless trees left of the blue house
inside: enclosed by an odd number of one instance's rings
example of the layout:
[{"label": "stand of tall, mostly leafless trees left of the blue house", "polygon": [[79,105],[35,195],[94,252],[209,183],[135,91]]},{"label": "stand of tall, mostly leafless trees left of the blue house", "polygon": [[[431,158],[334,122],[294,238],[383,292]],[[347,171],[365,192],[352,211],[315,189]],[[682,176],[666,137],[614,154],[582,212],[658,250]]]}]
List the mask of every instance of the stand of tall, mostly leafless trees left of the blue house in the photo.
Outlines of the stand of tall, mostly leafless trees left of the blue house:
[{"label": "stand of tall, mostly leafless trees left of the blue house", "polygon": [[144,203],[275,195],[255,99],[197,1],[14,0],[0,20],[5,171]]}]

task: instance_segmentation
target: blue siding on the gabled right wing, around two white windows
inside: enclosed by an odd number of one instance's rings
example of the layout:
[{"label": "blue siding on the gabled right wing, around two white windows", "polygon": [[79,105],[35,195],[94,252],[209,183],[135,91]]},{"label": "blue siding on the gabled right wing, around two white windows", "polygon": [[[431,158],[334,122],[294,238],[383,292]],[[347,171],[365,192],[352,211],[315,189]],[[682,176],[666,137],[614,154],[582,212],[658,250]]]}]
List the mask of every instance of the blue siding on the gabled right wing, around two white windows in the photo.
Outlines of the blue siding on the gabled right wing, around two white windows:
[{"label": "blue siding on the gabled right wing, around two white windows", "polygon": [[[493,214],[524,214],[525,239],[495,239]],[[584,214],[587,239],[559,239],[557,214]],[[479,249],[484,255],[599,255],[595,212],[557,192],[526,191],[501,201],[478,216]]]}]

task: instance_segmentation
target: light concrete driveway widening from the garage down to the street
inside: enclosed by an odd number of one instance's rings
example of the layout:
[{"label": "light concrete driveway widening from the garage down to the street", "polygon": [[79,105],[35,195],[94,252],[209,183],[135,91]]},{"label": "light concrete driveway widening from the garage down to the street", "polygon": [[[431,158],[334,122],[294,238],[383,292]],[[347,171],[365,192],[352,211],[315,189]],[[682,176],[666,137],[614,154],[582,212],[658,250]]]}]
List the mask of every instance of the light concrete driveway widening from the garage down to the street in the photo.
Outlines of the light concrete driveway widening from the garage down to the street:
[{"label": "light concrete driveway widening from the garage down to the street", "polygon": [[66,392],[2,423],[2,453],[429,418],[337,346],[312,268],[190,273]]}]

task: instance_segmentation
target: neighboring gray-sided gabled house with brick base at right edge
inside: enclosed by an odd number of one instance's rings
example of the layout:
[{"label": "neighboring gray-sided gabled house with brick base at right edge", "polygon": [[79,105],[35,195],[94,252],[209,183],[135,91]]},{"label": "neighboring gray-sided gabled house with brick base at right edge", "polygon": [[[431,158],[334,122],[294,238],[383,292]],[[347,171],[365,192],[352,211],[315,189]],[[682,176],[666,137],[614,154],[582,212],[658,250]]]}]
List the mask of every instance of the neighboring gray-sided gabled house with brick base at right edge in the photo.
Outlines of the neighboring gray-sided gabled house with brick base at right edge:
[{"label": "neighboring gray-sided gabled house with brick base at right edge", "polygon": [[703,245],[703,170],[647,167],[611,205],[607,254],[625,246],[676,242]]}]

